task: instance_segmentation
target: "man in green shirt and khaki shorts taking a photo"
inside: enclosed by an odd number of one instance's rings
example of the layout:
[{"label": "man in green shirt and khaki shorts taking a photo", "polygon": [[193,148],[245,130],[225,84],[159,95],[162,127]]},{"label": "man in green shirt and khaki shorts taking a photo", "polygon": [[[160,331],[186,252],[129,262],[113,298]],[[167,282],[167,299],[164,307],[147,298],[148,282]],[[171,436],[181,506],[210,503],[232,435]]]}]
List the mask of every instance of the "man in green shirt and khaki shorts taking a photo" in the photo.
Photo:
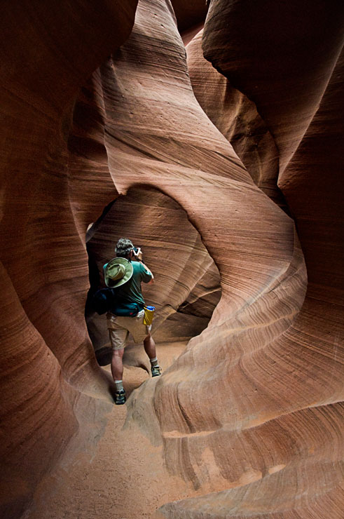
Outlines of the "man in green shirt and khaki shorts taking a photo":
[{"label": "man in green shirt and khaki shorts taking a photo", "polygon": [[[116,258],[104,265],[104,280],[108,287],[116,288],[115,306],[107,314],[112,347],[111,373],[116,384],[115,403],[124,404],[126,400],[123,388],[123,353],[128,344],[129,333],[135,343],[144,342],[144,350],[151,361],[152,377],[160,375],[156,358],[156,344],[151,337],[151,325],[144,325],[144,298],[141,282],[151,285],[154,276],[142,262],[142,252],[126,238],[118,240],[115,248]],[[133,308],[132,316],[123,316],[123,308]]]}]

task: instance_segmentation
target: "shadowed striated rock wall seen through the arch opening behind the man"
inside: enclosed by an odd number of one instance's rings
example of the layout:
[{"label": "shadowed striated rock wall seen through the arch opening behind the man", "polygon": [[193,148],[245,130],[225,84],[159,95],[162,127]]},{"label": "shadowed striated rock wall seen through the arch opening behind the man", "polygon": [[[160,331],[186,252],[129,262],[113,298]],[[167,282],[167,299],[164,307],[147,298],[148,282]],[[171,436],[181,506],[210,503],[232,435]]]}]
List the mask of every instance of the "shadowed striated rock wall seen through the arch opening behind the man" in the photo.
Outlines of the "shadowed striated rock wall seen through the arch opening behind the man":
[{"label": "shadowed striated rock wall seen through the arch opening behind the man", "polygon": [[[152,326],[156,342],[185,342],[199,335],[221,297],[220,276],[183,208],[149,186],[132,187],[116,198],[86,236],[90,295],[105,286],[102,267],[113,257],[121,236],[130,236],[144,250],[144,261],[156,278],[154,285],[144,287],[145,298],[156,306]],[[109,364],[106,319],[92,309],[90,297],[85,318],[99,364]],[[141,357],[130,360],[135,359],[142,365]]]}]

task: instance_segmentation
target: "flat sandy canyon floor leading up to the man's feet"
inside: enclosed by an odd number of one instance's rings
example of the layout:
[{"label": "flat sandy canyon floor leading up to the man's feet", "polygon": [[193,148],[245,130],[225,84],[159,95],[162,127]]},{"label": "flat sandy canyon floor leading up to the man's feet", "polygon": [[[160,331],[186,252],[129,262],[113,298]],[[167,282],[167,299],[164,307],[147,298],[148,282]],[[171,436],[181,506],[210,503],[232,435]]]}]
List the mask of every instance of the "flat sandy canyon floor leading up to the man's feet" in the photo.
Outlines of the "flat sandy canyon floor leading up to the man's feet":
[{"label": "flat sandy canyon floor leading up to the man's feet", "polygon": [[[186,342],[160,344],[158,358],[166,370]],[[139,346],[140,347],[140,346]],[[104,368],[110,371],[109,366]],[[125,368],[123,379],[128,396],[149,375],[141,368]],[[95,450],[70,452],[36,492],[25,519],[137,519],[156,516],[159,506],[188,497],[191,488],[169,478],[164,485],[163,448],[147,439],[137,442],[135,426],[126,426],[127,405],[113,405]],[[149,474],[149,476],[147,476]],[[194,492],[193,492],[194,493]]]}]

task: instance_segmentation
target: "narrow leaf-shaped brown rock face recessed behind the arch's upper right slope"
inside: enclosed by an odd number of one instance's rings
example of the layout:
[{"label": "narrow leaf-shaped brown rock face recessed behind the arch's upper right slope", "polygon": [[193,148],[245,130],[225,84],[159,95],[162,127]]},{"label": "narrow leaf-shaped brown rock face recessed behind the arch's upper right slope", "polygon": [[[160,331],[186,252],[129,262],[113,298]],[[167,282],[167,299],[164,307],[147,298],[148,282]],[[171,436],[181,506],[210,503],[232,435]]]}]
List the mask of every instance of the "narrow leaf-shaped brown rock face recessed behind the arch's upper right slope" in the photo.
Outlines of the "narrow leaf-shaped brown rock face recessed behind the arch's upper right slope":
[{"label": "narrow leaf-shaped brown rock face recessed behind the arch's upper right slope", "polygon": [[203,57],[203,30],[186,46],[193,93],[216,128],[231,142],[254,183],[287,210],[277,187],[279,154],[266,122],[249,98]]}]

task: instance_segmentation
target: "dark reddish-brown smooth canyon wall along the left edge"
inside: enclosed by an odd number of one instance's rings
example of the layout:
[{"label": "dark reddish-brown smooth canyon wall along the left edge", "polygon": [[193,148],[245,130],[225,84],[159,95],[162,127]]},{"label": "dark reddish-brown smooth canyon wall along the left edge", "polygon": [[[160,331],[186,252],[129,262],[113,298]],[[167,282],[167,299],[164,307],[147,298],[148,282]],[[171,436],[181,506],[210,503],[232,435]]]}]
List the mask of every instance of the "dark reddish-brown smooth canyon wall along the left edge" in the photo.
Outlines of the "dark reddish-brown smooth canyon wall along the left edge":
[{"label": "dark reddish-brown smooth canyon wall along the left edge", "polygon": [[[87,220],[81,230],[71,199],[67,139],[78,89],[109,49],[128,37],[136,6],[136,0],[1,4],[4,517],[18,517],[37,481],[78,431],[78,389],[90,415],[93,399],[85,393],[102,393],[106,402],[109,391],[83,318]],[[93,193],[95,171],[90,161],[83,172]],[[89,222],[106,203],[101,173],[102,199],[93,194],[86,201],[88,190],[83,193]]]}]

